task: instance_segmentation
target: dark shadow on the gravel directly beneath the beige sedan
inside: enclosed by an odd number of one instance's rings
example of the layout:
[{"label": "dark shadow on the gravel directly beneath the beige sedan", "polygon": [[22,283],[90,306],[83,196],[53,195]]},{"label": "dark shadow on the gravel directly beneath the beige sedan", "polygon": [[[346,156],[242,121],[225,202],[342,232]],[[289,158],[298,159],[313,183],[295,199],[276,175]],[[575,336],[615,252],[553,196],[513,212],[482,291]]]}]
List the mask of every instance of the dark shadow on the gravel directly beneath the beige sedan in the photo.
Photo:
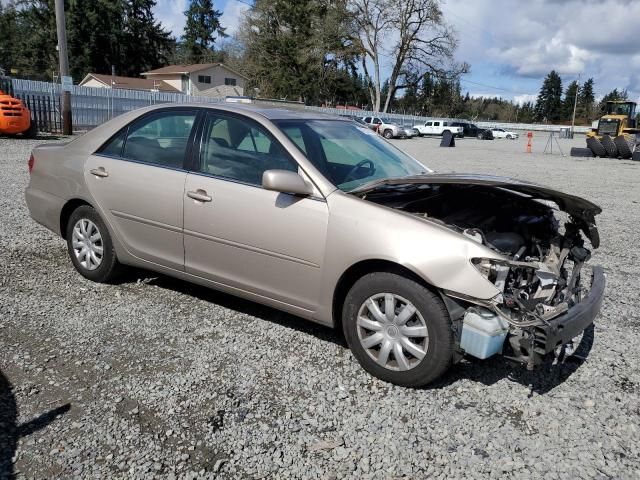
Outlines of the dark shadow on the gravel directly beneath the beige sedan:
[{"label": "dark shadow on the gravel directly beneath the beige sedan", "polygon": [[[230,310],[277,323],[304,334],[313,335],[320,340],[334,343],[343,348],[349,348],[342,331],[339,329],[325,327],[231,294],[144,270],[134,270],[127,278],[122,279],[123,283],[138,281],[190,295]],[[487,360],[465,357],[462,362],[454,365],[440,380],[423,388],[439,389],[463,379],[490,386],[506,378],[527,386],[530,390],[529,396],[533,395],[533,393],[544,395],[565,382],[587,361],[589,352],[593,347],[593,340],[594,328],[591,325],[585,330],[574,355],[566,359],[564,363],[553,365],[552,359],[549,359],[534,370],[527,370],[524,365],[509,362],[499,355]],[[354,359],[354,361],[356,360]]]}]

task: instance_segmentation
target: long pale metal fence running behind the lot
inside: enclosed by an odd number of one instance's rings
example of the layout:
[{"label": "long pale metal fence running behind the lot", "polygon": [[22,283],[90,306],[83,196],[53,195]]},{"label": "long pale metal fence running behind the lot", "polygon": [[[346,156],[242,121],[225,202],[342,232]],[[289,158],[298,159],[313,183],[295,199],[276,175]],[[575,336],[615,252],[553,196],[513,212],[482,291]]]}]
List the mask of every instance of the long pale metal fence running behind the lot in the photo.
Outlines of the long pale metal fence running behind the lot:
[{"label": "long pale metal fence running behind the lot", "polygon": [[[20,95],[41,95],[57,97],[60,95],[60,85],[33,80],[13,79],[13,90]],[[89,129],[122,113],[136,108],[155,105],[158,103],[199,103],[211,104],[224,102],[223,98],[199,97],[183,95],[181,93],[149,92],[142,90],[123,90],[112,88],[80,87],[74,85],[71,90],[71,108],[73,112],[74,129]],[[376,113],[366,110],[346,110],[339,108],[309,107],[305,109],[342,116],[381,116],[392,119],[401,125],[415,125],[432,120],[434,117],[419,117],[414,115],[400,115],[394,113]],[[59,112],[57,112],[59,114]],[[438,117],[442,118],[442,117]],[[447,119],[455,121],[456,119]],[[497,123],[474,122],[480,127],[497,127],[505,130],[531,130],[545,132],[559,132],[564,125],[526,124],[526,123]],[[575,127],[576,133],[586,133],[589,127]]]}]

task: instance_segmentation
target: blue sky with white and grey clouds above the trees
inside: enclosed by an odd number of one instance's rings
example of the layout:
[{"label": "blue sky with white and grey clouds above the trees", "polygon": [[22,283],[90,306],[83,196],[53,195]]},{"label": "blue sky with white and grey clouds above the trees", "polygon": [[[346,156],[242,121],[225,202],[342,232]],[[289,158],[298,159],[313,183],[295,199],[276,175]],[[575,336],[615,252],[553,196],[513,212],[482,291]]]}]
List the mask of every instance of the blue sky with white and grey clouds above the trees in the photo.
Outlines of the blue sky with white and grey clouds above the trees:
[{"label": "blue sky with white and grey clouds above the trees", "polygon": [[[156,17],[182,34],[188,0],[157,0]],[[233,33],[250,0],[218,0],[221,23]],[[445,20],[457,31],[462,80],[472,96],[535,100],[555,69],[566,86],[592,77],[596,97],[613,88],[640,97],[640,0],[445,0]],[[387,69],[389,67],[387,66]]]}]

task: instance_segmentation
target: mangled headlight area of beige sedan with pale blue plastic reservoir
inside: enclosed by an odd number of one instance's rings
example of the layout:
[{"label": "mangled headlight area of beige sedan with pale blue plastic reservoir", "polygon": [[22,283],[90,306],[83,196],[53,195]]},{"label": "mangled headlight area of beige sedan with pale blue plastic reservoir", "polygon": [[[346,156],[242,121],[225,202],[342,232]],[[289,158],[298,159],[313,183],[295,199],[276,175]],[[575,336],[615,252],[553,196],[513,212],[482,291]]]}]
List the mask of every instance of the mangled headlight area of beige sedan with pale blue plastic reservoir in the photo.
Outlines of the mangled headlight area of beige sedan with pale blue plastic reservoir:
[{"label": "mangled headlight area of beige sedan with pale blue plastic reservoir", "polygon": [[[566,356],[568,350],[575,348],[573,337],[559,332],[569,321],[573,325],[568,325],[567,332],[575,330],[576,335],[582,331],[576,329],[576,322],[586,325],[586,319],[571,320],[568,312],[588,292],[581,279],[591,253],[584,247],[579,229],[571,223],[565,225],[564,235],[557,234],[548,242],[535,238],[531,241],[529,246],[512,249],[513,254],[494,248],[505,259],[472,259],[478,273],[500,293],[488,302],[475,302],[482,304],[480,317],[477,307],[465,312],[460,346],[466,353],[480,353],[479,358],[486,358],[485,346],[489,346],[489,353],[500,351],[532,368],[550,353]],[[538,254],[533,255],[534,252]],[[479,322],[478,318],[485,321]],[[475,335],[475,343],[469,342],[469,332]],[[499,350],[496,342],[502,342]]]}]

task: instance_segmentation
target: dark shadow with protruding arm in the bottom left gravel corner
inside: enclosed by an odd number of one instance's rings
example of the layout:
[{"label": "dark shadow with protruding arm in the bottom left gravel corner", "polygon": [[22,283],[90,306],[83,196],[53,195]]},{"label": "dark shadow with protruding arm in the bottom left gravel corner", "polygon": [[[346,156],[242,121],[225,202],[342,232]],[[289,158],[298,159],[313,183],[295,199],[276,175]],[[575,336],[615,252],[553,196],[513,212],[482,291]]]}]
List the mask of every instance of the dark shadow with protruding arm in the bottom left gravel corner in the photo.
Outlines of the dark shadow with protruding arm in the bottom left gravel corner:
[{"label": "dark shadow with protruding arm in the bottom left gravel corner", "polygon": [[0,480],[9,480],[15,477],[13,456],[18,440],[47,427],[56,417],[65,414],[70,408],[71,404],[67,403],[43,413],[27,423],[18,425],[18,409],[13,388],[0,370]]}]

